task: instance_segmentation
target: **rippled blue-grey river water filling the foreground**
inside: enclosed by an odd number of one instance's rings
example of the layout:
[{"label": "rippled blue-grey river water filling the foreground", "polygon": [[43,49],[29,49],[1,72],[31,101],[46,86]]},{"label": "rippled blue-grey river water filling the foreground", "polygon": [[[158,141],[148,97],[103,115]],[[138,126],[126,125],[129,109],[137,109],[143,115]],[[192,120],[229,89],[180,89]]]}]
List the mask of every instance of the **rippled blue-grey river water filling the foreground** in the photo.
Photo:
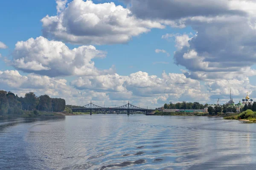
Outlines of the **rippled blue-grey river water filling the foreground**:
[{"label": "rippled blue-grey river water filling the foreground", "polygon": [[218,117],[84,115],[0,120],[2,170],[241,170],[256,124]]}]

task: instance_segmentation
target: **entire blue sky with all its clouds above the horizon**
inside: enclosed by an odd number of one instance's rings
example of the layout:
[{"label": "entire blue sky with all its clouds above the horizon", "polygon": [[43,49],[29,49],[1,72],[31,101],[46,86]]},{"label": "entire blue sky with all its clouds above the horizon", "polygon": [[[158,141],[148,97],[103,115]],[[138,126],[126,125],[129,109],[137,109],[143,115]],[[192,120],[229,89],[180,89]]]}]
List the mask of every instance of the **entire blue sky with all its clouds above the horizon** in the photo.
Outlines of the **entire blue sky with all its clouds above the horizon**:
[{"label": "entire blue sky with all its clouds above the horizon", "polygon": [[256,96],[255,0],[9,0],[0,89],[70,105]]}]

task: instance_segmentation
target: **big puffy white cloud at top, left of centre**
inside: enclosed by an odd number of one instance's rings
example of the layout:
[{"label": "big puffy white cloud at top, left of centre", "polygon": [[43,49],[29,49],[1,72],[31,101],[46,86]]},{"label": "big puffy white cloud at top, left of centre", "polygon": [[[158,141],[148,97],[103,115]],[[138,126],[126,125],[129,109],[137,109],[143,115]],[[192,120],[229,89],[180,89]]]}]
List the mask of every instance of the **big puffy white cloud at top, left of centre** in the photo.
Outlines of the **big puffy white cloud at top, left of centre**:
[{"label": "big puffy white cloud at top, left of centre", "polygon": [[113,2],[73,0],[67,8],[64,3],[57,0],[58,14],[41,20],[44,36],[74,44],[102,45],[125,43],[151,28],[164,28],[159,22],[137,19],[129,9]]}]

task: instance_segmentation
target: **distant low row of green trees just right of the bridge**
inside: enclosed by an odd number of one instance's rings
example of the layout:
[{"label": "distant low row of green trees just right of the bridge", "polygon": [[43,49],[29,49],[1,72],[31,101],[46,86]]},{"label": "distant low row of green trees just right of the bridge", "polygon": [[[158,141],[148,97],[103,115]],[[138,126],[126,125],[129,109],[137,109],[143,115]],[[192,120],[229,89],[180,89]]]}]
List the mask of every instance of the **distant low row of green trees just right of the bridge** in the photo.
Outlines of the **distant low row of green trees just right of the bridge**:
[{"label": "distant low row of green trees just right of the bridge", "polygon": [[169,104],[164,104],[163,108],[165,109],[204,109],[208,107],[208,104],[202,105],[198,102],[178,102],[176,104],[173,104],[170,102]]}]

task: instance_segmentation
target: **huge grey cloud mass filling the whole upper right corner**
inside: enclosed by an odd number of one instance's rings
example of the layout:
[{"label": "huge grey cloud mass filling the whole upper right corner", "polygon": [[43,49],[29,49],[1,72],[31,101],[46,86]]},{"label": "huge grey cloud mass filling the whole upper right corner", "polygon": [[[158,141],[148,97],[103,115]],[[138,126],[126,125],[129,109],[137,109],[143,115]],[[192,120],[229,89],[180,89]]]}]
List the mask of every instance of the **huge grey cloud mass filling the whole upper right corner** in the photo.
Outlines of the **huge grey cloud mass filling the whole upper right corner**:
[{"label": "huge grey cloud mass filling the whole upper right corner", "polygon": [[175,38],[175,63],[186,67],[186,75],[191,78],[204,79],[213,74],[224,78],[225,74],[256,64],[255,1],[131,0],[129,3],[129,9],[138,18],[174,27],[192,27],[196,32],[193,37],[188,34],[162,36],[163,39]]}]

